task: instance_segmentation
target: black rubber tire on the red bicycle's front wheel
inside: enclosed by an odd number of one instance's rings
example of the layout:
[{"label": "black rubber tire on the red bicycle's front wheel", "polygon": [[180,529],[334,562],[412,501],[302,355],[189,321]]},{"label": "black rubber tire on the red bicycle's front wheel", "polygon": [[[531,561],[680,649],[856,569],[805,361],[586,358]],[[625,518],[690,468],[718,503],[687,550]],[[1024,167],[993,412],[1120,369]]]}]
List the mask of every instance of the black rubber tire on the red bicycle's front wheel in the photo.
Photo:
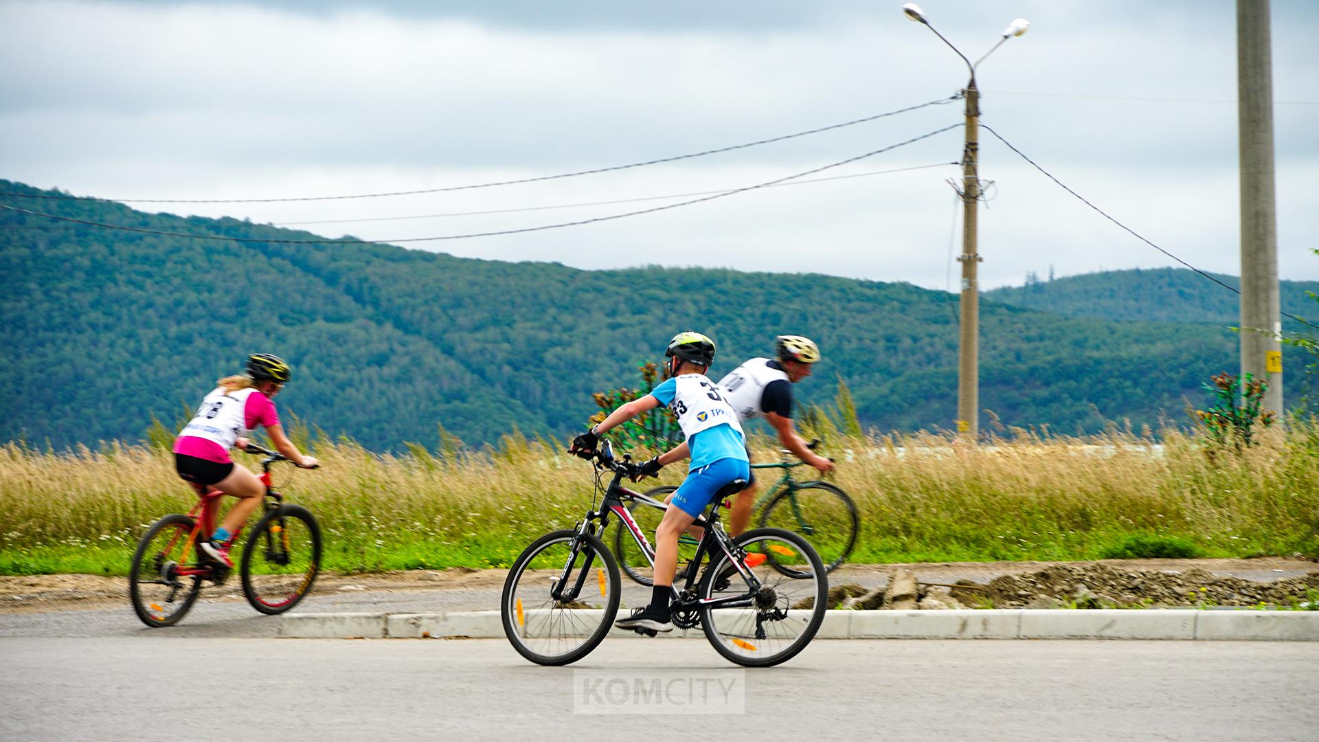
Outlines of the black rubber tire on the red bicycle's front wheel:
[{"label": "black rubber tire on the red bicycle's front wheel", "polygon": [[[265,585],[257,585],[259,580],[255,580],[253,560],[256,555],[261,555],[262,561],[257,562],[259,566],[276,565],[288,566],[291,564],[291,557],[289,556],[289,522],[301,522],[311,540],[311,553],[306,558],[306,566],[299,566],[295,572],[288,574],[288,580],[269,580],[274,584],[273,590],[270,590],[272,599],[266,599],[262,594],[266,590]],[[281,533],[277,539],[278,544],[272,543],[276,540],[273,533]],[[265,537],[265,544],[262,545],[262,537]],[[248,535],[247,544],[243,548],[243,561],[239,570],[243,582],[243,595],[247,598],[248,603],[260,613],[265,615],[278,615],[284,611],[290,610],[293,606],[302,602],[302,598],[307,597],[311,591],[311,585],[317,581],[317,574],[321,572],[321,524],[317,523],[311,511],[299,504],[280,504],[272,507],[265,512],[260,522],[257,522],[256,528]],[[301,553],[301,549],[299,549]],[[285,564],[280,564],[280,560],[288,560]],[[299,557],[299,565],[302,564]],[[261,576],[264,577],[264,576]]]}]

